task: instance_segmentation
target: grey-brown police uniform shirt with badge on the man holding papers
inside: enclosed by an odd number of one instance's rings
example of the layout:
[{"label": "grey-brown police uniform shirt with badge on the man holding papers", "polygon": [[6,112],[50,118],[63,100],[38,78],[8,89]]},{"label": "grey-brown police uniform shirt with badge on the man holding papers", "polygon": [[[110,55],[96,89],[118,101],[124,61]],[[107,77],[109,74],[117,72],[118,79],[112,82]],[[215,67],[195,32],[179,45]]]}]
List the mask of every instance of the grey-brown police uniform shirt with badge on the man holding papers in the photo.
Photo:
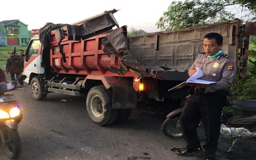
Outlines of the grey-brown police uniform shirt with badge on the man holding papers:
[{"label": "grey-brown police uniform shirt with badge on the man holding papers", "polygon": [[215,81],[214,84],[207,84],[204,93],[214,92],[231,86],[236,76],[236,63],[230,56],[223,52],[214,58],[208,58],[205,52],[201,52],[191,69],[201,68],[204,75],[201,80]]}]

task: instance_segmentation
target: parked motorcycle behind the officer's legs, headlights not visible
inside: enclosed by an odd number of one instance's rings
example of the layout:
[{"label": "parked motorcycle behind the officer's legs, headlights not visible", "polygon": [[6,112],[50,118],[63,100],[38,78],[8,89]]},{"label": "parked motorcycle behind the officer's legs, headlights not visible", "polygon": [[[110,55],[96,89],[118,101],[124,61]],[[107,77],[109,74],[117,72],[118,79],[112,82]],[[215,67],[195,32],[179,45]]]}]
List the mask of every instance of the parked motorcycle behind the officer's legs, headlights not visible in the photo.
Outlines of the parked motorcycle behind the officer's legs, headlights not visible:
[{"label": "parked motorcycle behind the officer's legs, headlights not visible", "polygon": [[[256,126],[256,100],[236,100],[231,103],[230,107],[235,111],[234,114],[223,113],[220,116],[220,136],[234,138],[228,152],[234,147],[238,137],[256,137],[256,132],[250,132],[248,129],[241,127]],[[179,120],[182,110],[183,107],[177,108],[166,116],[161,126],[164,135],[171,138],[183,137]],[[199,125],[202,125],[202,123],[200,122]]]}]

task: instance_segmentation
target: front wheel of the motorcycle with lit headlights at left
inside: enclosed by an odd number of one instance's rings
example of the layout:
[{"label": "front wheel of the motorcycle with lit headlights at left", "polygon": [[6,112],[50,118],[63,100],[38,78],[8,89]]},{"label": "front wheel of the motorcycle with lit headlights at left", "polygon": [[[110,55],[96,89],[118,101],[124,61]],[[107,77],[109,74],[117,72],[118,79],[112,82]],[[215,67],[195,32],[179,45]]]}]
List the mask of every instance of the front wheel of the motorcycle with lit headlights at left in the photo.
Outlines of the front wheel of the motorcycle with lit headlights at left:
[{"label": "front wheel of the motorcycle with lit headlights at left", "polygon": [[20,135],[17,130],[7,126],[1,129],[3,139],[4,153],[11,159],[16,159],[20,156]]}]

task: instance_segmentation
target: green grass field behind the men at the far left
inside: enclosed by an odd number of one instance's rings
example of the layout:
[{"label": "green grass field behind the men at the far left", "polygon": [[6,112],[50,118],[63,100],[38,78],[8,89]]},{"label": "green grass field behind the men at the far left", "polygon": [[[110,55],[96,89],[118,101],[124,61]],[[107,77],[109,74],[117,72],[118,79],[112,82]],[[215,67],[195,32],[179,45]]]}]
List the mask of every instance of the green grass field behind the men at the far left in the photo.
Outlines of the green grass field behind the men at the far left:
[{"label": "green grass field behind the men at the far left", "polygon": [[[0,68],[5,71],[5,67],[3,65],[6,65],[7,60],[10,58],[10,54],[8,52],[12,51],[13,47],[5,46],[0,47]],[[26,52],[27,46],[16,46],[16,54],[19,55],[19,50],[24,50]]]}]

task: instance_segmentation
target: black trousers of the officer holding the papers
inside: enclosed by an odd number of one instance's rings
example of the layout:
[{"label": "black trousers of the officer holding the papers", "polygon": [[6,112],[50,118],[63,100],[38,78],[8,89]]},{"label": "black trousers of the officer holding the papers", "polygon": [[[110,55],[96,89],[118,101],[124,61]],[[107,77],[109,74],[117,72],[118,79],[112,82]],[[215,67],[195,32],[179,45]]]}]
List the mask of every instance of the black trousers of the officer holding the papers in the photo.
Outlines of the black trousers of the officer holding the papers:
[{"label": "black trousers of the officer holding the papers", "polygon": [[215,153],[220,135],[220,115],[226,105],[226,92],[219,90],[212,93],[194,93],[185,101],[180,124],[187,149],[201,147],[196,128],[202,118],[206,144],[203,146],[206,154]]}]

